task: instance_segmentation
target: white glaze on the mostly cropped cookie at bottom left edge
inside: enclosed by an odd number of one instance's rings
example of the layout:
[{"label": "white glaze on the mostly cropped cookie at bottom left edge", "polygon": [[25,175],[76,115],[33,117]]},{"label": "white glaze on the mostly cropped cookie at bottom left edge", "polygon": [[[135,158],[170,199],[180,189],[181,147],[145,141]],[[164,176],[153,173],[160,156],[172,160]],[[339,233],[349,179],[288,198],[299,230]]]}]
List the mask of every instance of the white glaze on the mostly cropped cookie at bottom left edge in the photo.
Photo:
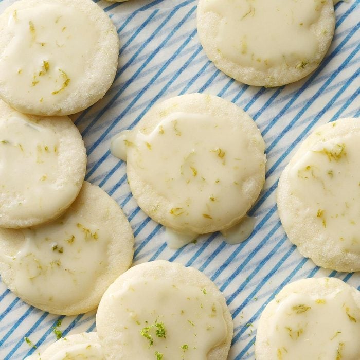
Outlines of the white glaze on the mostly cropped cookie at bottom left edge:
[{"label": "white glaze on the mostly cropped cookie at bottom left edge", "polygon": [[[105,360],[100,344],[78,344],[63,349],[49,360]],[[44,359],[43,359],[44,360]]]}]

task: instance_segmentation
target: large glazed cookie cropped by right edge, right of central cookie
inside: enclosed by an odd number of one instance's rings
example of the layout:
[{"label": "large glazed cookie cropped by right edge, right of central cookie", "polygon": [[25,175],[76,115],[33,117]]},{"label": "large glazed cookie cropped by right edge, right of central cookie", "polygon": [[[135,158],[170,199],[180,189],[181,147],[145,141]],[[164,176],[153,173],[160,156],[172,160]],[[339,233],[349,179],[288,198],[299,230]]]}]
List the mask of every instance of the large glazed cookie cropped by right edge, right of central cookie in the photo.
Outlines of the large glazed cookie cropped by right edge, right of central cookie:
[{"label": "large glazed cookie cropped by right edge, right of central cookie", "polygon": [[287,237],[316,265],[360,271],[360,122],[318,127],[282,172],[277,204]]}]

